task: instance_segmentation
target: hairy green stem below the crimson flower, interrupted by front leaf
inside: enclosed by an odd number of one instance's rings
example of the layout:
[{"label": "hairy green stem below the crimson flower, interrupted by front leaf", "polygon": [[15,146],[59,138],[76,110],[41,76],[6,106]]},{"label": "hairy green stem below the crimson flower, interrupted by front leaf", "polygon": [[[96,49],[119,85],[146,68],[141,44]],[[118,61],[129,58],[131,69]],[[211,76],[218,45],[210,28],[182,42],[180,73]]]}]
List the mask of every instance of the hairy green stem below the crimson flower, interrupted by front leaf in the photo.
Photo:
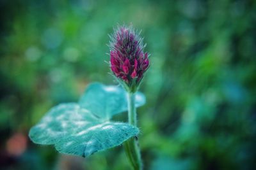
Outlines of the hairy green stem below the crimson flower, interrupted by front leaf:
[{"label": "hairy green stem below the crimson flower, interrupted by front leaf", "polygon": [[[135,94],[132,92],[127,93],[128,101],[128,119],[129,124],[136,126],[137,117],[136,117],[136,107],[135,107]],[[140,148],[138,146],[137,138],[130,138],[124,143],[125,152],[129,158],[132,167],[134,170],[142,170],[142,162],[140,155]]]}]

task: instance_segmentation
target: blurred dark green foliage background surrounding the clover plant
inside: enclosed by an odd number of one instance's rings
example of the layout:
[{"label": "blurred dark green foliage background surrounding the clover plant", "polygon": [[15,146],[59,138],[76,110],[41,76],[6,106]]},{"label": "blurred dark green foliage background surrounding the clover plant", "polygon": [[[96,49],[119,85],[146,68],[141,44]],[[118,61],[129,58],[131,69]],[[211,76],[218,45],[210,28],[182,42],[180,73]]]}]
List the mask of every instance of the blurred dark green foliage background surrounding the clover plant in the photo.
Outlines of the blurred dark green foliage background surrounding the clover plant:
[{"label": "blurred dark green foliage background surrounding the clover plant", "polygon": [[116,84],[108,34],[130,23],[151,53],[145,169],[256,168],[255,1],[1,0],[0,20],[0,169],[130,169],[122,147],[83,159],[28,138],[88,83]]}]

